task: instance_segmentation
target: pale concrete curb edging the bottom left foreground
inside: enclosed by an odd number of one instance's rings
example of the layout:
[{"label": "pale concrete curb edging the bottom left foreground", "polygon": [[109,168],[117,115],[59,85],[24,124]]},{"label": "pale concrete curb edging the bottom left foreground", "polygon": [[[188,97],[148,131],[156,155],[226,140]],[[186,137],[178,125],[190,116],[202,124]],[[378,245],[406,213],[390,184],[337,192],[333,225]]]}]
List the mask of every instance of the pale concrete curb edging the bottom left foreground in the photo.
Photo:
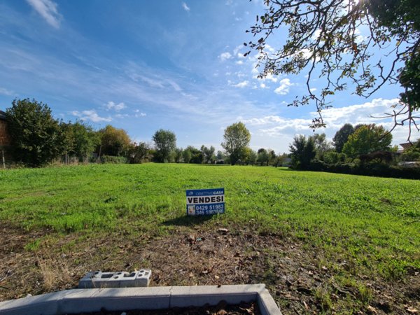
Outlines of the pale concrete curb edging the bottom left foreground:
[{"label": "pale concrete curb edging the bottom left foreground", "polygon": [[1,315],[61,315],[106,309],[168,309],[257,301],[262,315],[281,315],[264,284],[72,289],[0,302]]}]

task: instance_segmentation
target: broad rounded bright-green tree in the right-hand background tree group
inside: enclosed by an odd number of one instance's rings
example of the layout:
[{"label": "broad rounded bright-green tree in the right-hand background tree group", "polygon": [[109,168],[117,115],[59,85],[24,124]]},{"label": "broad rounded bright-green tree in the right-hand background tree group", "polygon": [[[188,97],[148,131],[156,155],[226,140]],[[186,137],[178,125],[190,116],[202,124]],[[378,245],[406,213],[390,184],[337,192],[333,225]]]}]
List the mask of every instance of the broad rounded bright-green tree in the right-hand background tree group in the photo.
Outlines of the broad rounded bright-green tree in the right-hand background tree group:
[{"label": "broad rounded bright-green tree in the right-hand background tree group", "polygon": [[392,134],[381,125],[363,125],[359,127],[343,147],[343,153],[350,158],[376,151],[391,150]]}]

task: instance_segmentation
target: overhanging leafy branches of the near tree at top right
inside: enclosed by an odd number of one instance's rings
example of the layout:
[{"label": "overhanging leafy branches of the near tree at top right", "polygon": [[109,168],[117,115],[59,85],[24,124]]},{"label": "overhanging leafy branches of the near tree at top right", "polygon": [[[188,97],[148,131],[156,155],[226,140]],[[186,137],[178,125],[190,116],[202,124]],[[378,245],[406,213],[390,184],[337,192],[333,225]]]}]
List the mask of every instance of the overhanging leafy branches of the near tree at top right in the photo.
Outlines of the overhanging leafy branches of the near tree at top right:
[{"label": "overhanging leafy branches of the near tree at top right", "polygon": [[[290,105],[316,106],[318,117],[311,127],[325,126],[321,112],[329,107],[328,96],[348,85],[356,94],[370,97],[387,83],[399,83],[405,92],[385,117],[394,118],[394,127],[409,123],[410,132],[412,125],[419,130],[419,116],[414,116],[420,109],[418,0],[264,2],[265,13],[248,30],[258,39],[244,45],[260,52],[260,78],[307,71],[307,94]],[[280,27],[288,27],[288,40],[271,53],[265,49],[267,41]],[[366,29],[367,36],[359,36],[360,29]],[[372,62],[375,50],[386,57]],[[325,80],[319,92],[311,89],[314,76]]]}]

